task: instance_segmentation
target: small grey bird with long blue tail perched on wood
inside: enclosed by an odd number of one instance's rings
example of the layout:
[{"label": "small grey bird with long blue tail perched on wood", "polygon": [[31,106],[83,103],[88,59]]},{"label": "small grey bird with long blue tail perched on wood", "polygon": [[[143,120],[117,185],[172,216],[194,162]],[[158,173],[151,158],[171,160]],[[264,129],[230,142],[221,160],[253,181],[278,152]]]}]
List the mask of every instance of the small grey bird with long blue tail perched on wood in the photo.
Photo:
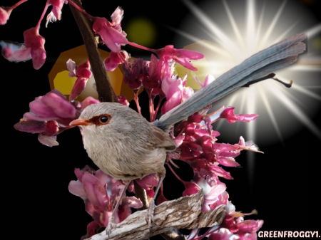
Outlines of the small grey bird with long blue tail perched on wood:
[{"label": "small grey bird with long blue tail perched on wood", "polygon": [[130,182],[148,174],[157,174],[158,186],[146,216],[151,229],[156,195],[165,177],[165,160],[168,152],[176,149],[168,135],[175,123],[250,84],[252,80],[294,63],[305,51],[305,38],[305,33],[300,33],[255,53],[154,122],[148,122],[135,110],[120,103],[88,105],[70,125],[83,129],[84,148],[97,167],[125,184],[108,221],[107,233],[116,226],[115,212]]}]

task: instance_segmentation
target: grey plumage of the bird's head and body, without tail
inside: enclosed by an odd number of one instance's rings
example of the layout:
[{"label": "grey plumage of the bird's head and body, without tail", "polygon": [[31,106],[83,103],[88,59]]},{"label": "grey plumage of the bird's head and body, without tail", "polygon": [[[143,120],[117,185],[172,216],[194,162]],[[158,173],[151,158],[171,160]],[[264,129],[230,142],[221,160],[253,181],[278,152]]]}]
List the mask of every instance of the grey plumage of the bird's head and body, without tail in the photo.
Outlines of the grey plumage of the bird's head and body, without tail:
[{"label": "grey plumage of the bird's head and body, without tail", "polygon": [[111,115],[107,125],[82,126],[91,160],[114,179],[133,180],[151,173],[165,176],[166,151],[175,150],[168,134],[120,103],[89,105],[79,119],[105,113]]}]

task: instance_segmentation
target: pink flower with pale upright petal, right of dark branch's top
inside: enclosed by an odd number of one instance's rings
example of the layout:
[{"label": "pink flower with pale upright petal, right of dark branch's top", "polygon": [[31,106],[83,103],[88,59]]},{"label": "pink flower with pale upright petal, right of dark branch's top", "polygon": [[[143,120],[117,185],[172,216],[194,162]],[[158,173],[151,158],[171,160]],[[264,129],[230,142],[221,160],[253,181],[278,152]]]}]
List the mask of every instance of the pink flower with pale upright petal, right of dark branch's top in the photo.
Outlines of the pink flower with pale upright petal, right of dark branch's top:
[{"label": "pink flower with pale upright petal, right of dark branch's top", "polygon": [[127,34],[121,29],[121,19],[123,19],[123,9],[118,6],[113,14],[111,14],[112,22],[98,17],[93,22],[93,31],[100,35],[106,46],[115,53],[120,51],[119,45],[128,43]]}]

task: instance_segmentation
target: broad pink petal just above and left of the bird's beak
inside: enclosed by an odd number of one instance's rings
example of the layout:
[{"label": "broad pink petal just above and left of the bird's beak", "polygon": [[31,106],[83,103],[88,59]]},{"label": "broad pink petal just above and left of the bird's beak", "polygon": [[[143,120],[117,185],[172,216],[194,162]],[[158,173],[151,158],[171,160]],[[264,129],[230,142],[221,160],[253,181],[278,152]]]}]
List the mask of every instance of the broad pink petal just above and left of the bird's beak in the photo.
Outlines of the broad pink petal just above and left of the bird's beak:
[{"label": "broad pink petal just above and left of the bird's beak", "polygon": [[42,102],[61,118],[76,118],[76,109],[71,103],[54,93],[47,93]]}]

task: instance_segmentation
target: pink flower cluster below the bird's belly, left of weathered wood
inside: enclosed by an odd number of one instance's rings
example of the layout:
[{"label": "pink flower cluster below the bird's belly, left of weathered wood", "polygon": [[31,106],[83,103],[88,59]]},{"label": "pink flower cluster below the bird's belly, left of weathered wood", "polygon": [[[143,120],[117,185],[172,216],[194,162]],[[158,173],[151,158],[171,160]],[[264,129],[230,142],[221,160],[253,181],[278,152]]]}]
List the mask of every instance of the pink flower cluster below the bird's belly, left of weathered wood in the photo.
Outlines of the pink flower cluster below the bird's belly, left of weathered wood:
[{"label": "pink flower cluster below the bird's belly, left of weathered wood", "polygon": [[[87,225],[87,234],[81,238],[87,239],[96,234],[101,227],[108,225],[108,219],[120,197],[124,184],[120,180],[115,180],[104,174],[101,170],[94,171],[88,166],[82,170],[76,168],[75,174],[78,180],[69,183],[69,192],[83,199],[86,212],[94,220]],[[143,207],[143,203],[136,197],[123,198],[121,206],[116,212],[116,223],[131,215],[130,207],[138,209]]]}]

